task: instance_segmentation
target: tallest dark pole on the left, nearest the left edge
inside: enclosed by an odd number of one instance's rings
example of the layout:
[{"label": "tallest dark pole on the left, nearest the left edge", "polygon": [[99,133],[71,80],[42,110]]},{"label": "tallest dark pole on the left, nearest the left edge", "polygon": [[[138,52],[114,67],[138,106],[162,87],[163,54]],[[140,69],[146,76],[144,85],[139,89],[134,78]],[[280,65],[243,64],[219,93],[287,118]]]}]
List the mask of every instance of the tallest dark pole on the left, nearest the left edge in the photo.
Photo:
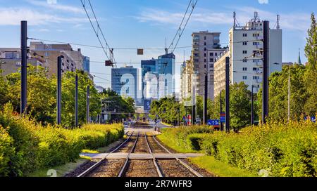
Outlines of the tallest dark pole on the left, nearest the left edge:
[{"label": "tallest dark pole on the left, nearest the left edge", "polygon": [[27,21],[21,21],[21,100],[20,114],[27,111]]}]

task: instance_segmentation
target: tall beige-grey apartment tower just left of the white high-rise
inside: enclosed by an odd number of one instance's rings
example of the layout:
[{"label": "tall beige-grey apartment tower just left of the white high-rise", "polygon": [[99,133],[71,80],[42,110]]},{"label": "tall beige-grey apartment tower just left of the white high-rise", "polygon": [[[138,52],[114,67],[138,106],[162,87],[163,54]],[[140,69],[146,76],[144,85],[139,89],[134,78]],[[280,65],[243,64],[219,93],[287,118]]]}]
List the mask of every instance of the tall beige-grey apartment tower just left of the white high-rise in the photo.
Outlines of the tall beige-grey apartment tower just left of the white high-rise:
[{"label": "tall beige-grey apartment tower just left of the white high-rise", "polygon": [[197,95],[204,95],[205,74],[208,74],[208,98],[213,100],[213,64],[225,49],[220,48],[220,32],[201,31],[192,34],[192,59],[197,74]]}]

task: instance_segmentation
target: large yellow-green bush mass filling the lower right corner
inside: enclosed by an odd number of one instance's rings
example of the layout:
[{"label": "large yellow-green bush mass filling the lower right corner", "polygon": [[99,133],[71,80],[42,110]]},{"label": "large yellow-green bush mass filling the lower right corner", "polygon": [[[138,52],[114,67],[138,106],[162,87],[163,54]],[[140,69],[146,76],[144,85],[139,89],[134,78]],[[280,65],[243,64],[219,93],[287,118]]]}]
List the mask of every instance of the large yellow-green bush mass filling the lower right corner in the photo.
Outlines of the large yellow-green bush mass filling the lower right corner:
[{"label": "large yellow-green bush mass filling the lower right corner", "polygon": [[317,176],[317,126],[309,121],[271,122],[242,133],[217,132],[201,144],[206,154],[269,176]]}]

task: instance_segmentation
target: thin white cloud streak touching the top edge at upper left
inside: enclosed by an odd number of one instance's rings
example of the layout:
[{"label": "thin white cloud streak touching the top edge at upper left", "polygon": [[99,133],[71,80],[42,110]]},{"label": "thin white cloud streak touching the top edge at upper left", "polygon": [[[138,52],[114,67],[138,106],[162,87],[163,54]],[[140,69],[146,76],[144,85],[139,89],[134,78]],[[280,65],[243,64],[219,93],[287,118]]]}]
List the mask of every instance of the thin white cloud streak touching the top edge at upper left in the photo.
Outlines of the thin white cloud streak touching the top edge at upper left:
[{"label": "thin white cloud streak touching the top edge at upper left", "polygon": [[73,13],[85,13],[82,8],[77,8],[74,6],[66,6],[63,4],[58,4],[57,1],[37,1],[37,0],[27,0],[28,3],[35,6],[42,6],[45,8],[51,8],[58,11],[66,11]]}]

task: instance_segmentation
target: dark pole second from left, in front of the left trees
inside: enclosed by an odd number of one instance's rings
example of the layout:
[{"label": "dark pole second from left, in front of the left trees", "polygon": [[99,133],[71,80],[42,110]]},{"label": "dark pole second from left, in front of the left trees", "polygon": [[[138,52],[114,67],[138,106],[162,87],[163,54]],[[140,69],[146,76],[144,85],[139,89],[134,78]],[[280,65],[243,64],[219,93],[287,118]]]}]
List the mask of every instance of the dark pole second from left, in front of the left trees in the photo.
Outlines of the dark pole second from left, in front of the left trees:
[{"label": "dark pole second from left, in front of the left trees", "polygon": [[57,57],[57,115],[56,115],[56,122],[58,125],[61,124],[61,65],[63,62],[63,55]]}]

